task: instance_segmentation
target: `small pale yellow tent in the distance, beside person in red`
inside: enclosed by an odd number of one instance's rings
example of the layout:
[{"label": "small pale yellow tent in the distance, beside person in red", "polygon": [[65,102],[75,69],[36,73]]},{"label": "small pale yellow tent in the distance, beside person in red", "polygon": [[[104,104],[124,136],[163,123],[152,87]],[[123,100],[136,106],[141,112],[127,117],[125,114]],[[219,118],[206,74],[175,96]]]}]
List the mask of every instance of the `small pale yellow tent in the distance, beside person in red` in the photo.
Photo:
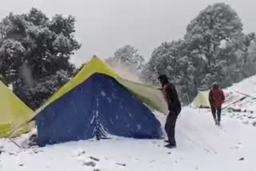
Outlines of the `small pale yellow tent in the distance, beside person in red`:
[{"label": "small pale yellow tent in the distance, beside person in red", "polygon": [[210,108],[210,102],[208,100],[209,90],[198,91],[198,95],[192,101],[193,108]]}]

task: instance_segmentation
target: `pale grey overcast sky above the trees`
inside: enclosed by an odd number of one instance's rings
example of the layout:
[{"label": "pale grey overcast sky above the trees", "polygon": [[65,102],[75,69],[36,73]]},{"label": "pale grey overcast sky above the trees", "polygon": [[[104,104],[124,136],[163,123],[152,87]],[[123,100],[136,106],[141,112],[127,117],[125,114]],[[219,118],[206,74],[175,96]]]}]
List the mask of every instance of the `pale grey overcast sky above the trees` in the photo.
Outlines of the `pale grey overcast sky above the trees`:
[{"label": "pale grey overcast sky above the trees", "polygon": [[[162,42],[182,38],[186,25],[216,0],[1,0],[0,18],[10,11],[27,13],[38,7],[49,17],[72,14],[82,48],[72,58],[80,65],[94,54],[108,58],[126,44],[146,58]],[[246,33],[256,31],[255,0],[222,0],[242,18]]]}]

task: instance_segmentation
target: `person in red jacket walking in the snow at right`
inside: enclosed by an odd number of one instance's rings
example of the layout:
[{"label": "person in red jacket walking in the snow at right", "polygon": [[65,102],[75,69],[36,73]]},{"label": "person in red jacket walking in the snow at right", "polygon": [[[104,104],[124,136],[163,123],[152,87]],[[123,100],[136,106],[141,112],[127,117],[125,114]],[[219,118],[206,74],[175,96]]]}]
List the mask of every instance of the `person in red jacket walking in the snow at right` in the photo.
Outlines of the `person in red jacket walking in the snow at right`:
[{"label": "person in red jacket walking in the snow at right", "polygon": [[[222,89],[219,88],[218,83],[214,82],[213,88],[210,89],[209,101],[211,112],[213,113],[214,121],[216,125],[220,125],[222,115],[222,104],[225,101],[225,95]],[[217,112],[217,118],[216,118]]]}]

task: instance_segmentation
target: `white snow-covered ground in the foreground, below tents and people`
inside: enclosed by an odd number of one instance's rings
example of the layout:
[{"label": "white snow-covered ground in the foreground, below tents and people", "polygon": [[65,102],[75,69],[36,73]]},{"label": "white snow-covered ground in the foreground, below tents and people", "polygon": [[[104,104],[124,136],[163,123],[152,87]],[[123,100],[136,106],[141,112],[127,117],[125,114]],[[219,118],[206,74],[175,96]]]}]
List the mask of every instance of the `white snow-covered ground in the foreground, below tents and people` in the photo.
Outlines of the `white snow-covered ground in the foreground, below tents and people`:
[{"label": "white snow-covered ground in the foreground, below tents and people", "polygon": [[[218,127],[207,110],[184,108],[177,122],[177,149],[164,148],[162,140],[124,137],[30,149],[0,140],[0,170],[256,170],[256,127],[227,114]],[[158,118],[165,120],[159,113]]]}]

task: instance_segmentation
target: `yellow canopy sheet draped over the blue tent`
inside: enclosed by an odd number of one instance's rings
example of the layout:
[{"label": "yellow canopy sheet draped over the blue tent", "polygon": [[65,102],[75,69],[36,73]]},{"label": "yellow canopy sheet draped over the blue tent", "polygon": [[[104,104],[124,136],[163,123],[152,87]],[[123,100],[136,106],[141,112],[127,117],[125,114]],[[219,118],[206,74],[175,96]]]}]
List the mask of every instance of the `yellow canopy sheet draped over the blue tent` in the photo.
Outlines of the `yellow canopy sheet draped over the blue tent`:
[{"label": "yellow canopy sheet draped over the blue tent", "polygon": [[[126,89],[130,91],[142,102],[148,105],[151,109],[156,109],[161,113],[167,114],[168,109],[166,105],[166,101],[162,97],[162,92],[159,89],[156,89],[149,85],[142,85],[135,82],[130,82],[124,78],[121,78],[118,74],[114,72],[105,62],[102,62],[99,58],[94,56],[90,62],[88,62],[85,66],[83,66],[82,70],[72,79],[70,82],[63,85],[61,89],[58,89],[56,93],[40,109],[34,113],[34,116],[30,117],[25,123],[32,121],[34,117],[45,109],[47,105],[58,100],[58,98],[62,97],[64,94],[68,93],[71,89],[74,89],[76,86],[85,82],[87,78],[90,78],[91,75],[98,74],[106,74],[112,78],[114,78],[118,83],[123,85]],[[23,123],[24,125],[24,123]]]}]

